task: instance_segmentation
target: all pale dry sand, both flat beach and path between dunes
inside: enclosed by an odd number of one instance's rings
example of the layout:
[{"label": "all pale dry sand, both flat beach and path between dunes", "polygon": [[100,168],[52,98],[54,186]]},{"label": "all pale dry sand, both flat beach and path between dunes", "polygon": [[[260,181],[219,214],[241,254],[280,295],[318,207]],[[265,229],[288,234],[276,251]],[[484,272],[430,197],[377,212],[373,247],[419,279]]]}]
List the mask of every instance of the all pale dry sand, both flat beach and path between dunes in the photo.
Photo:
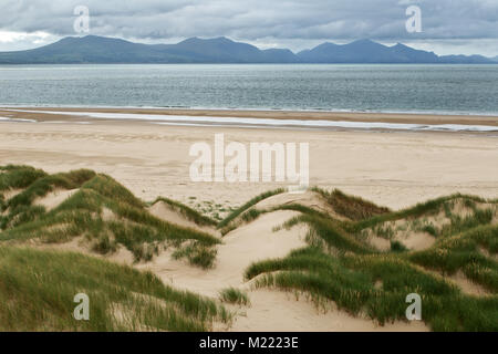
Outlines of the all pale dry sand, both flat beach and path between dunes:
[{"label": "all pale dry sand, both flat beach and path between dunes", "polygon": [[[282,186],[190,181],[190,145],[203,140],[212,144],[216,133],[225,133],[226,144],[310,143],[311,185],[340,188],[394,209],[457,191],[498,198],[498,139],[487,135],[178,127],[96,121],[91,125],[1,123],[0,165],[25,164],[49,173],[91,168],[111,175],[145,200],[165,196],[188,202],[188,197],[195,196],[197,200],[238,206]],[[264,202],[258,207],[262,206]],[[294,215],[262,215],[228,233],[218,247],[214,270],[173,261],[167,252],[137,267],[153,270],[166,283],[216,296],[228,285],[243,287],[242,274],[251,262],[283,257],[305,244],[304,228],[272,232],[274,226]],[[126,253],[116,258],[129,263],[129,257]],[[252,305],[247,309],[248,317],[238,317],[234,329],[380,330],[369,320],[342,312],[318,314],[309,302],[286,300],[288,294],[258,290],[249,295]],[[421,323],[385,329],[426,330]]]}]

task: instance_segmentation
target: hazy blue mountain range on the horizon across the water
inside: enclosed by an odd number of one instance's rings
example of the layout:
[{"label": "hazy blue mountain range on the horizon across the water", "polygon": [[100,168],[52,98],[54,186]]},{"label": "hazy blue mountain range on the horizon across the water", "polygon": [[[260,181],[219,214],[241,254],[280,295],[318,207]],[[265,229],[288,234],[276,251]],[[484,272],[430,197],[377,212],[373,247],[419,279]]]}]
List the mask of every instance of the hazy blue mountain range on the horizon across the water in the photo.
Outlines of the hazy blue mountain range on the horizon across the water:
[{"label": "hazy blue mountain range on the horizon across the water", "polygon": [[142,44],[96,35],[68,37],[41,48],[0,52],[0,64],[83,63],[453,63],[490,64],[483,55],[436,55],[397,43],[387,46],[371,40],[349,44],[323,43],[293,53],[288,49],[260,50],[225,37],[190,38],[177,44]]}]

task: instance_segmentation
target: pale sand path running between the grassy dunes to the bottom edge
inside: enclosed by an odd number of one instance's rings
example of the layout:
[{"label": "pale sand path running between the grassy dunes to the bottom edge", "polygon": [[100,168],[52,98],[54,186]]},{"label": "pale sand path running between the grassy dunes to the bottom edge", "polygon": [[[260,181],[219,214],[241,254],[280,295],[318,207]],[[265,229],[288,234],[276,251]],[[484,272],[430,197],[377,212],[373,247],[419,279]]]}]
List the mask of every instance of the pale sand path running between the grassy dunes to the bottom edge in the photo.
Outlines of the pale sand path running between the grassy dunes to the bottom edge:
[{"label": "pale sand path running between the grassy dunes to the bottom edge", "polygon": [[[319,205],[318,198],[308,195],[286,195],[289,202],[308,200]],[[274,196],[256,207],[279,205],[282,196]],[[294,196],[294,197],[289,197]],[[305,197],[304,197],[305,196]],[[314,199],[314,200],[313,200]],[[188,289],[204,295],[216,298],[220,290],[235,287],[248,292],[250,305],[237,309],[237,316],[230,331],[428,331],[422,322],[395,322],[384,326],[374,321],[353,316],[338,310],[332,302],[326,311],[305,299],[280,291],[255,289],[255,281],[246,282],[243,273],[256,261],[282,258],[291,250],[307,246],[304,238],[308,228],[293,227],[291,230],[273,231],[290,218],[300,215],[295,211],[274,211],[264,214],[258,219],[241,226],[222,238],[218,246],[216,267],[212,270],[200,270],[170,258],[163,252],[152,262],[135,264],[157,274],[165,283],[175,288]],[[303,296],[301,296],[303,298]]]}]

